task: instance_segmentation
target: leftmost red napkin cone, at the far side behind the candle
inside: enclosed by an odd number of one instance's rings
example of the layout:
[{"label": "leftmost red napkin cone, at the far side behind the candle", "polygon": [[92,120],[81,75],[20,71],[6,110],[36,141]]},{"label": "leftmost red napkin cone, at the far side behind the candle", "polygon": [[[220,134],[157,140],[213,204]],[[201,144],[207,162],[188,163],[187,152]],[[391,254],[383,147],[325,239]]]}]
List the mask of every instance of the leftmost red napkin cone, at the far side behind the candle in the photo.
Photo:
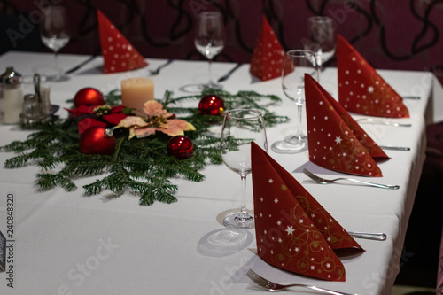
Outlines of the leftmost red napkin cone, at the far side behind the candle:
[{"label": "leftmost red napkin cone, at the far side behind the candle", "polygon": [[97,10],[97,19],[105,74],[130,71],[148,65],[103,12]]}]

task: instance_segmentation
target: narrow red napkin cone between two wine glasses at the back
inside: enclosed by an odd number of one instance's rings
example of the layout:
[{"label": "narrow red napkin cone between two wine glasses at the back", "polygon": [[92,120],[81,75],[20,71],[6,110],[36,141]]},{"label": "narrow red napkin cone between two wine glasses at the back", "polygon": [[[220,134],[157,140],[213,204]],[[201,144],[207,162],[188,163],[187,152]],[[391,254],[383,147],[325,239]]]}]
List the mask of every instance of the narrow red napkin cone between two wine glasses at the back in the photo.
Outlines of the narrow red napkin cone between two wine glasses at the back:
[{"label": "narrow red napkin cone between two wine glasses at the back", "polygon": [[284,49],[272,27],[269,26],[268,19],[265,16],[262,19],[263,25],[253,50],[249,72],[260,80],[266,81],[282,75]]}]

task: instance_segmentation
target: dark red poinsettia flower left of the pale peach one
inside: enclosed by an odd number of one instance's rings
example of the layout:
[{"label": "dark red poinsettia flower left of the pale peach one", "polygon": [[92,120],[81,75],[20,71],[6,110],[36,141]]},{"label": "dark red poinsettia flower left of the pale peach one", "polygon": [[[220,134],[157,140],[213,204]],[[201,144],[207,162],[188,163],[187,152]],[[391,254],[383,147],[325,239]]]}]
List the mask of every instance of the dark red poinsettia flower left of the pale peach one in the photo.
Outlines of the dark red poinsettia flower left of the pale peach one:
[{"label": "dark red poinsettia flower left of the pale peach one", "polygon": [[71,113],[72,117],[79,118],[79,133],[83,133],[86,129],[93,126],[119,125],[120,120],[127,117],[126,113],[123,112],[124,108],[125,106],[123,105],[81,105],[76,109],[66,109],[66,111]]}]

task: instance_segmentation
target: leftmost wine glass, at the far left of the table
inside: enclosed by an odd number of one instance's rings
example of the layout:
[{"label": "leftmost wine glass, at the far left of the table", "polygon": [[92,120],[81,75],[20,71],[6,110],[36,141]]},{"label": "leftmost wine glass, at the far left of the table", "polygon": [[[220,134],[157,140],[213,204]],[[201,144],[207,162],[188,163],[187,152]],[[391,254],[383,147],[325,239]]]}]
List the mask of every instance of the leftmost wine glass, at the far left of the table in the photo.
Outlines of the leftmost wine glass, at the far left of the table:
[{"label": "leftmost wine glass, at the far left of the table", "polygon": [[65,81],[67,76],[58,67],[58,51],[65,47],[70,39],[70,31],[67,23],[66,9],[63,6],[53,5],[43,12],[43,21],[40,26],[40,36],[43,44],[54,51],[55,66],[40,69],[46,80]]}]

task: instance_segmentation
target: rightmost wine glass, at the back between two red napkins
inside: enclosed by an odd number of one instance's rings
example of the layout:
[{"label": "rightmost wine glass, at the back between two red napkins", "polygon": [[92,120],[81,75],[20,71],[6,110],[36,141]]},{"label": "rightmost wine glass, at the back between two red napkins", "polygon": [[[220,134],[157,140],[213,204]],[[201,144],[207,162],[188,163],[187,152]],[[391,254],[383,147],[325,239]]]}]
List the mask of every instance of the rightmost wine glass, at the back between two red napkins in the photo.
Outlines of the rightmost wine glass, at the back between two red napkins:
[{"label": "rightmost wine glass, at the back between two red napkins", "polygon": [[322,69],[325,62],[335,54],[336,38],[334,20],[326,16],[307,19],[305,49],[315,52],[317,66]]}]

